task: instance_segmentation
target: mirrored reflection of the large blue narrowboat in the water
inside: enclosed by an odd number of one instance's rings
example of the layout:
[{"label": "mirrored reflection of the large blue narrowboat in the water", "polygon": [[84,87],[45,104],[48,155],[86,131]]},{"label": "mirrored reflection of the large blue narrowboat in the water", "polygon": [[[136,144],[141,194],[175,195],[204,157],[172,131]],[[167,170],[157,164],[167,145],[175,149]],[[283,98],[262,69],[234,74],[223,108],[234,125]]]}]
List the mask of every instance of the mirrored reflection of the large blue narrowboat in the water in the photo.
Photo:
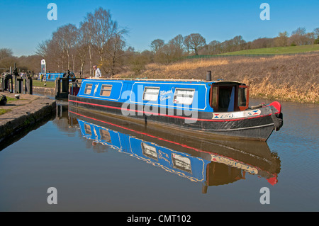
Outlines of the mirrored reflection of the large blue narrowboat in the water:
[{"label": "mirrored reflection of the large blue narrowboat in the water", "polygon": [[[69,106],[69,118],[77,119],[82,136],[92,145],[106,145],[130,154],[190,181],[218,186],[254,174],[275,185],[280,160],[266,142],[213,140],[182,132],[167,132],[156,125],[121,120],[110,115]],[[209,138],[209,139],[208,139]]]}]

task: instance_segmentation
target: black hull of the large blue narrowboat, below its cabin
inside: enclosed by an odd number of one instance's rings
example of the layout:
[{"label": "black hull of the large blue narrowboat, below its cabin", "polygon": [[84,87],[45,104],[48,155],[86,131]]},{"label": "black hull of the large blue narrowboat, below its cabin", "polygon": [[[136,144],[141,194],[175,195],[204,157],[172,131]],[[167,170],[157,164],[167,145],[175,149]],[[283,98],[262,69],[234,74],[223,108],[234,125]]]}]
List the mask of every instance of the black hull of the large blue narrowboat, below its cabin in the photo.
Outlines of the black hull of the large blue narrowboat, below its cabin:
[{"label": "black hull of the large blue narrowboat, below its cabin", "polygon": [[[123,111],[122,103],[113,101],[101,101],[92,98],[82,98],[79,96],[69,96],[69,106],[86,108],[91,111],[112,114],[115,117],[125,118],[127,120],[139,119],[143,123],[157,123],[174,130],[189,130],[199,135],[217,135],[220,138],[239,138],[247,140],[266,141],[274,130],[274,121],[271,111],[262,113],[259,117],[245,118],[242,120],[212,120],[212,113],[198,112],[198,120],[192,120],[190,114],[183,112],[179,116],[177,113],[149,114],[143,111],[142,106],[135,106],[136,111]],[[126,108],[125,108],[126,109]],[[142,109],[142,111],[138,111]],[[125,115],[123,115],[123,113]],[[172,116],[173,115],[173,116]]]}]

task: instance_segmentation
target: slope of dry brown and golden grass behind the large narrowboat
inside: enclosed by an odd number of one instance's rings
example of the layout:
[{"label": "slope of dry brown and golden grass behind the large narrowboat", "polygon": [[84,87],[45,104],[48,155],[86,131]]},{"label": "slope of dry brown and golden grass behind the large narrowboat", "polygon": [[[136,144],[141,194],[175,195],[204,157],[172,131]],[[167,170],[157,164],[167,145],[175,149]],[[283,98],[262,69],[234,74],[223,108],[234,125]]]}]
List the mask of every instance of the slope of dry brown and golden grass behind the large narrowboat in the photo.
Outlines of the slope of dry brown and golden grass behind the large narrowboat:
[{"label": "slope of dry brown and golden grass behind the large narrowboat", "polygon": [[116,74],[118,78],[236,80],[250,85],[250,96],[319,103],[319,52],[272,57],[215,57],[172,64],[147,64],[145,71]]}]

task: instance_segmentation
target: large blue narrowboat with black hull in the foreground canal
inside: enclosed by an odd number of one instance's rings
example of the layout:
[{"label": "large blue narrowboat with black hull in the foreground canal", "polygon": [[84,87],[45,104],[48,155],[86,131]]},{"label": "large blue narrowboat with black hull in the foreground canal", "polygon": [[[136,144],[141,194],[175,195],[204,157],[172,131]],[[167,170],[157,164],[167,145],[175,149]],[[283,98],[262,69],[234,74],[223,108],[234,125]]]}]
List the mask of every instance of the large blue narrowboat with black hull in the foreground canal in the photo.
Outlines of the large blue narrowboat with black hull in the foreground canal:
[{"label": "large blue narrowboat with black hull in the foreground canal", "polygon": [[238,81],[89,78],[69,106],[232,139],[266,141],[283,124],[279,102],[249,106]]}]

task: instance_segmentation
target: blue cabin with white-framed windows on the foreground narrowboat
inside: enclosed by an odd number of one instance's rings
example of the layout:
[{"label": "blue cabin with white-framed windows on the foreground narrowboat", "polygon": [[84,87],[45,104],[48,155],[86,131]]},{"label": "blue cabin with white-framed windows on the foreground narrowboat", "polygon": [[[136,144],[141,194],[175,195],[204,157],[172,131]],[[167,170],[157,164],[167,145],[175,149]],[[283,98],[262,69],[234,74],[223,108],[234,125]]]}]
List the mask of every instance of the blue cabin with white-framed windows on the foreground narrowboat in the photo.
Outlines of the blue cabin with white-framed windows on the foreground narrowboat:
[{"label": "blue cabin with white-framed windows on the foreground narrowboat", "polygon": [[244,111],[249,88],[238,81],[84,79],[77,96],[189,111]]}]

